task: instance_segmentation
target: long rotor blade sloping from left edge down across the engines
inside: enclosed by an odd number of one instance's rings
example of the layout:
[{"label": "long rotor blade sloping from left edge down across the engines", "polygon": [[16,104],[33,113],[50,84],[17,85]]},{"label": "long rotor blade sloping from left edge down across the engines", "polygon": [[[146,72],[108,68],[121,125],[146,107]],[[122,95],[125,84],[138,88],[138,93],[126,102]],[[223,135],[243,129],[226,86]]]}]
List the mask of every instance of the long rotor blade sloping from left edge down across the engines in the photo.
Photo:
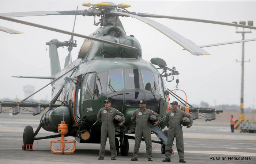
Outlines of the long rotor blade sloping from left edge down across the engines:
[{"label": "long rotor blade sloping from left edge down across the engines", "polygon": [[93,38],[93,37],[90,37],[90,36],[81,35],[81,34],[77,34],[77,33],[74,33],[74,32],[69,32],[69,31],[64,31],[64,30],[60,30],[60,29],[52,28],[52,27],[48,27],[48,26],[43,26],[43,25],[40,25],[40,24],[30,23],[30,22],[26,22],[26,21],[23,21],[23,20],[13,19],[13,18],[10,18],[10,17],[0,16],[0,19],[8,20],[8,21],[11,21],[11,22],[16,22],[16,23],[20,23],[20,24],[26,24],[26,25],[34,26],[34,27],[38,27],[38,28],[43,28],[43,29],[50,30],[50,31],[60,32],[60,33],[63,33],[63,34],[74,35],[74,36],[78,36],[80,38],[95,40],[95,41],[102,42],[102,43],[114,44],[118,47],[131,48],[131,49],[137,50],[136,47],[127,46],[127,45],[120,44],[120,43],[115,43],[115,42],[110,42],[108,40]]}]

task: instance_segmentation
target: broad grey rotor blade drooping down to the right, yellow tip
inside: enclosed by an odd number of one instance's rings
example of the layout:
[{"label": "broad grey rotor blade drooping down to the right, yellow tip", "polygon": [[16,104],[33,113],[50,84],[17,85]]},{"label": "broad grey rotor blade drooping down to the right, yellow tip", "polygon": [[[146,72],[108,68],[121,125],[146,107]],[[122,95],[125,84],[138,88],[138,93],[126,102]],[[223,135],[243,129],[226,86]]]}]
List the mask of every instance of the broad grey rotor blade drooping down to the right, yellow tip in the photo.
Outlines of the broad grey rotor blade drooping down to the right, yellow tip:
[{"label": "broad grey rotor blade drooping down to the right, yellow tip", "polygon": [[131,16],[135,17],[136,19],[141,20],[144,23],[147,23],[148,25],[154,27],[158,31],[162,32],[164,35],[166,35],[168,38],[172,39],[174,42],[179,44],[181,47],[188,50],[193,55],[210,55],[208,52],[204,51],[202,48],[196,46],[194,42],[191,40],[188,40],[178,34],[177,32],[171,30],[170,28],[155,22],[154,20],[147,19],[141,16],[133,15],[130,13],[124,13],[124,12],[118,12],[118,11],[110,11],[111,13],[117,14],[117,15],[124,15],[124,16]]}]

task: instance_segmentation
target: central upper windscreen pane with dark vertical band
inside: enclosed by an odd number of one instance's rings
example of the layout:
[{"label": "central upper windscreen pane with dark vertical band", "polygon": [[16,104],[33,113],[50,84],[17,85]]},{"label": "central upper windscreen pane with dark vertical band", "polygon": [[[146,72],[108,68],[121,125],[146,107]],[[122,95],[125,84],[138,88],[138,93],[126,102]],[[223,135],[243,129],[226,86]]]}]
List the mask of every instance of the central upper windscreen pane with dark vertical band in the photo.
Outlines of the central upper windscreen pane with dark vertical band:
[{"label": "central upper windscreen pane with dark vertical band", "polygon": [[125,88],[142,89],[140,72],[138,69],[125,69]]}]

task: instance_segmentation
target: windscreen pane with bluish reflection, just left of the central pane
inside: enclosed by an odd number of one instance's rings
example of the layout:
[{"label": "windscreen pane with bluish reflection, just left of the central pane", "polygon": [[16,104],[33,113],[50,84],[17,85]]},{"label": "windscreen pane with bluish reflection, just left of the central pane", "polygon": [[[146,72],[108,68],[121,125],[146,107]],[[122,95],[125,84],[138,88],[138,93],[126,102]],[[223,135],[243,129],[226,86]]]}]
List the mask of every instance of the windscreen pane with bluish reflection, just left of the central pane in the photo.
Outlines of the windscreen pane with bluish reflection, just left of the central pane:
[{"label": "windscreen pane with bluish reflection, just left of the central pane", "polygon": [[124,88],[123,70],[110,70],[108,79],[108,92],[117,91]]}]

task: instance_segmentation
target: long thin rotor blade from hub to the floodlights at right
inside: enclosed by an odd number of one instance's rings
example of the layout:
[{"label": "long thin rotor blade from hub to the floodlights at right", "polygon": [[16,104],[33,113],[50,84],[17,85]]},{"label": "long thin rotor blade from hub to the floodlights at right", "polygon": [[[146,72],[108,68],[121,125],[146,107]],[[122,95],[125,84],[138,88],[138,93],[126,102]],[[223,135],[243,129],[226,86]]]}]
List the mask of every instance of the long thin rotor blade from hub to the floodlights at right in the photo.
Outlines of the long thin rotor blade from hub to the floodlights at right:
[{"label": "long thin rotor blade from hub to the floodlights at right", "polygon": [[186,21],[192,21],[192,22],[221,24],[221,25],[226,25],[226,26],[242,27],[242,28],[249,28],[249,29],[256,30],[255,26],[247,26],[247,25],[236,24],[236,23],[219,22],[219,21],[214,21],[214,20],[195,19],[195,18],[177,17],[177,16],[166,16],[166,15],[155,15],[155,14],[148,14],[148,13],[136,13],[136,15],[142,16],[142,17],[168,18],[168,19],[186,20]]}]

